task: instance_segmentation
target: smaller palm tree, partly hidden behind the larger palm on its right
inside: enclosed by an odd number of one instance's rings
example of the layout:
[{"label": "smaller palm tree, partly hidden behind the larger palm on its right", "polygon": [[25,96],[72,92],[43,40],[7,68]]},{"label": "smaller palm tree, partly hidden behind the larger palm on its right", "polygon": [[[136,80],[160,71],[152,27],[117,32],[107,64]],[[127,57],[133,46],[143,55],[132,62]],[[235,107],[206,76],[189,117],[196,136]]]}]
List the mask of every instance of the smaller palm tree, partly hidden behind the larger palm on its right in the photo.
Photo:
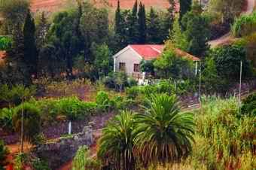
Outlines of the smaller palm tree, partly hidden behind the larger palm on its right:
[{"label": "smaller palm tree, partly hidden behind the larger palm on its right", "polygon": [[133,156],[132,131],[134,117],[131,111],[121,111],[114,117],[114,122],[108,122],[102,130],[103,136],[99,140],[97,156],[102,165],[114,165],[114,169],[133,170],[136,168],[136,159]]}]

